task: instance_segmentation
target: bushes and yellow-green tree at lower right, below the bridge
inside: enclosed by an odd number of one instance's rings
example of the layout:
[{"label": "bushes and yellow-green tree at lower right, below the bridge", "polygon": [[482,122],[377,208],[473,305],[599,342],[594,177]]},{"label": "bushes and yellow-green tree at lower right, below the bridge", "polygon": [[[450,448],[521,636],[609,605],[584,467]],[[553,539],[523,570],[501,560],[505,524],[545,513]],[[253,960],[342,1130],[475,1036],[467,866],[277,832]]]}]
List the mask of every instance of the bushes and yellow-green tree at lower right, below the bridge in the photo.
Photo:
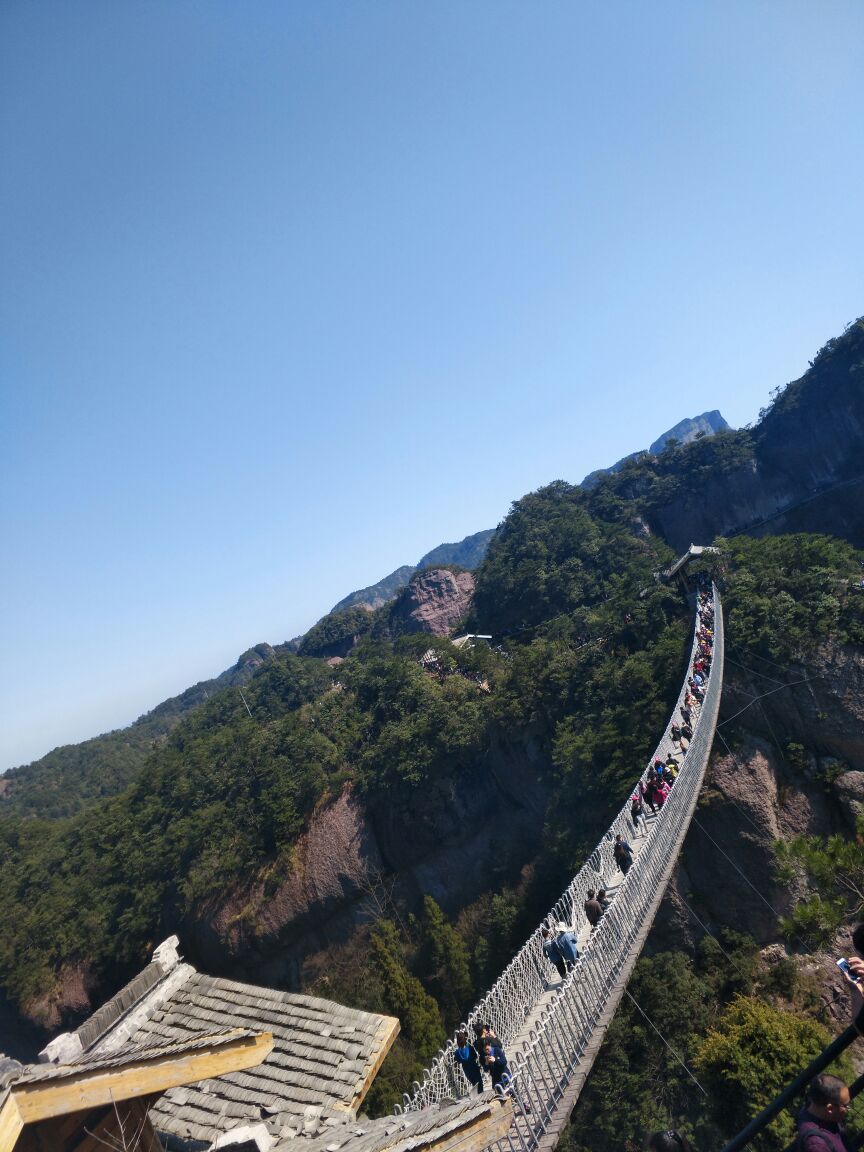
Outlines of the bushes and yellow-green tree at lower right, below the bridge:
[{"label": "bushes and yellow-green tree at lower right, below the bridge", "polygon": [[[696,1147],[721,1147],[831,1039],[813,1018],[816,985],[790,960],[766,967],[752,940],[728,931],[704,937],[694,957],[639,960],[628,992],[563,1152],[636,1152],[670,1124]],[[832,1071],[855,1078],[846,1059]],[[781,1113],[755,1146],[780,1152],[794,1116]]]}]

